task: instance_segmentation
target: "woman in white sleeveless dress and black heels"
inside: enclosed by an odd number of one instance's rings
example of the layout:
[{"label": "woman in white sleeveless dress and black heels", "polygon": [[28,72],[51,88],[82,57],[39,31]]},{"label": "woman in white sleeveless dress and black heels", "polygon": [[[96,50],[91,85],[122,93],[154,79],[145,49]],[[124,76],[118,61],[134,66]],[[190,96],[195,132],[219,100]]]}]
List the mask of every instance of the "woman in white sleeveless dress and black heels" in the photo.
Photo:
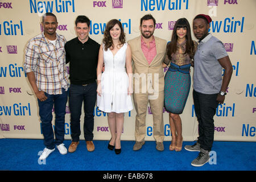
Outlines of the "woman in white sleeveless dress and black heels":
[{"label": "woman in white sleeveless dress and black heels", "polygon": [[[105,64],[105,71],[102,67]],[[100,47],[97,67],[97,106],[108,113],[111,133],[108,148],[115,154],[121,152],[121,134],[124,113],[133,109],[133,71],[131,68],[131,49],[125,43],[122,23],[112,19],[106,24],[103,43]]]}]

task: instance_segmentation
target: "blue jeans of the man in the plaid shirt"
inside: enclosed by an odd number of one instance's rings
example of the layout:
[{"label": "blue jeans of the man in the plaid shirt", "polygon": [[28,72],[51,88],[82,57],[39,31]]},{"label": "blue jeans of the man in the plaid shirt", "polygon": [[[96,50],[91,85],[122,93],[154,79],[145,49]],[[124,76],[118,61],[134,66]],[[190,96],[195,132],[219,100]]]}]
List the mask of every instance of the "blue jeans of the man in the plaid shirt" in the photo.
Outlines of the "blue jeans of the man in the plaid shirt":
[{"label": "blue jeans of the man in the plaid shirt", "polygon": [[[38,99],[39,115],[42,121],[42,133],[44,136],[44,145],[48,149],[55,148],[55,144],[59,145],[64,141],[65,135],[65,114],[66,104],[68,100],[68,91],[62,89],[62,94],[48,94],[44,93],[47,97],[46,101]],[[52,107],[55,110],[55,141],[52,129]]]}]

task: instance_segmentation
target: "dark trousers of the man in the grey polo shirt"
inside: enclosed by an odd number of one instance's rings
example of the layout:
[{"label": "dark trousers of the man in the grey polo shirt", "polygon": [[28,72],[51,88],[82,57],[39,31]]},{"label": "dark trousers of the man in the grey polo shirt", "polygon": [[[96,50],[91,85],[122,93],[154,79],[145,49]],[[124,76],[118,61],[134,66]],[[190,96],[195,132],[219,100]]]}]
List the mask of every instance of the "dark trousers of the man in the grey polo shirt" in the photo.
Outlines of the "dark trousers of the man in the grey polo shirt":
[{"label": "dark trousers of the man in the grey polo shirt", "polygon": [[193,100],[196,117],[199,122],[199,137],[197,142],[204,150],[212,150],[214,140],[214,120],[218,106],[218,94],[203,94],[193,90]]}]

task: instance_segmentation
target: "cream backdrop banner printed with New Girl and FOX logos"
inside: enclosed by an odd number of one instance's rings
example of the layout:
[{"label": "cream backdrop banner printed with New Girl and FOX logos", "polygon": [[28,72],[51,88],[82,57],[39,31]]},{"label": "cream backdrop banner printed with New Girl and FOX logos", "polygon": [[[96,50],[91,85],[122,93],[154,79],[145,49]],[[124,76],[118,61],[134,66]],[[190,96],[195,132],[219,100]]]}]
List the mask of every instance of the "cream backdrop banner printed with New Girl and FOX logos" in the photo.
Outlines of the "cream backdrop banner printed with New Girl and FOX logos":
[{"label": "cream backdrop banner printed with New Girl and FOX logos", "polygon": [[[0,1],[0,138],[42,139],[38,103],[24,73],[24,49],[28,40],[42,31],[42,15],[57,16],[57,33],[67,40],[76,37],[75,19],[86,15],[91,20],[90,38],[102,43],[106,23],[119,19],[126,41],[141,34],[140,19],[152,14],[156,19],[155,36],[171,39],[174,23],[197,14],[212,17],[209,32],[224,43],[233,65],[225,103],[218,105],[214,117],[215,140],[256,141],[256,1],[255,0],[1,0]],[[193,36],[193,40],[196,40]],[[67,65],[69,67],[69,65]],[[164,72],[168,68],[164,69]],[[191,76],[193,68],[191,68]],[[71,139],[70,112],[66,107],[65,139]],[[168,113],[164,113],[164,140],[171,140]],[[94,109],[94,139],[108,140],[107,114]],[[125,113],[122,140],[134,140],[135,109]],[[54,116],[54,109],[53,109]],[[183,114],[183,138],[196,140],[198,123],[192,86]],[[81,126],[84,113],[81,115]],[[54,128],[54,121],[53,128]],[[150,105],[146,118],[146,140],[153,138]],[[82,129],[83,127],[81,127]],[[83,132],[81,139],[84,139]]]}]

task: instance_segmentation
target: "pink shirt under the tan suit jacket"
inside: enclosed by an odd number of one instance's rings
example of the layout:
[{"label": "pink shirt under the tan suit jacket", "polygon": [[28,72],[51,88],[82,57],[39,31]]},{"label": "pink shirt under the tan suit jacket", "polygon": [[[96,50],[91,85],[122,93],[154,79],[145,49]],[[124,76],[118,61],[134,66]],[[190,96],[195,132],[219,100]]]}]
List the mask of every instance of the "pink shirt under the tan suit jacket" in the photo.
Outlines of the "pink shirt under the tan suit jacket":
[{"label": "pink shirt under the tan suit jacket", "polygon": [[150,48],[148,48],[146,42],[144,42],[144,40],[141,37],[141,49],[142,52],[144,53],[144,56],[147,59],[148,65],[150,65],[150,63],[156,56],[155,38],[150,42]]}]

